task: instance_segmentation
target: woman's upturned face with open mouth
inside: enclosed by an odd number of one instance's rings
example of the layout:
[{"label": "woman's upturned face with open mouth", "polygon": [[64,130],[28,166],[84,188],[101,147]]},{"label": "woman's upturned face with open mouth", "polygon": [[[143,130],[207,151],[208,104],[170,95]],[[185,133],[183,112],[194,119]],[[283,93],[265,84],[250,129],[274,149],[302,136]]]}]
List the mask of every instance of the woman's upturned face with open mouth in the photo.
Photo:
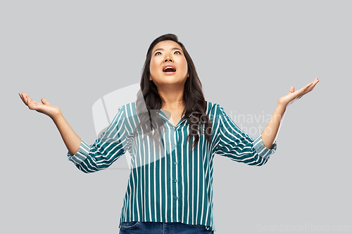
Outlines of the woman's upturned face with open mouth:
[{"label": "woman's upturned face with open mouth", "polygon": [[179,44],[175,41],[161,41],[151,53],[151,77],[158,88],[182,85],[187,80],[187,60]]}]

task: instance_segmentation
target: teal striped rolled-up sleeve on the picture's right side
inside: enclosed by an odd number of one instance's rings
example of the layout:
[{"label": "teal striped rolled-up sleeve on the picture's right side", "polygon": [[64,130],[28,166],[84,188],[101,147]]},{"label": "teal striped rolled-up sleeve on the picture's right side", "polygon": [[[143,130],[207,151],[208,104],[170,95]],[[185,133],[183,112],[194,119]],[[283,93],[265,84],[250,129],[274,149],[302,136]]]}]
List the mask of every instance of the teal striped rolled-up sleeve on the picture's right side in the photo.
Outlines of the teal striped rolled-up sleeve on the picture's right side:
[{"label": "teal striped rolled-up sleeve on the picture's right side", "polygon": [[256,139],[249,137],[234,124],[220,105],[218,112],[218,147],[215,148],[215,153],[252,166],[261,166],[268,162],[270,155],[277,149],[276,142],[272,149],[265,148],[261,134]]}]

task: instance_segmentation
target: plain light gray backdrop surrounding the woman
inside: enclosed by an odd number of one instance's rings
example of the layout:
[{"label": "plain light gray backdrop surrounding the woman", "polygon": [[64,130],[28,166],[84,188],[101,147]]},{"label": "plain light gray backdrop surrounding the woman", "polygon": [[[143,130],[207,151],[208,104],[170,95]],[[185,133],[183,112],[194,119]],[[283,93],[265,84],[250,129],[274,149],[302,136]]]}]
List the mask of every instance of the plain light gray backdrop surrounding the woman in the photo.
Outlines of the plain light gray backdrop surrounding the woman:
[{"label": "plain light gray backdrop surrounding the woman", "polygon": [[[274,226],[351,233],[351,6],[1,1],[0,232],[118,233],[129,171],[79,171],[51,119],[29,110],[18,92],[58,105],[93,143],[93,103],[138,83],[151,41],[174,33],[194,60],[206,100],[234,120],[271,115],[290,86],[320,79],[287,110],[277,152],[263,167],[216,155],[215,233],[271,233]],[[266,125],[241,121],[254,130]]]}]

